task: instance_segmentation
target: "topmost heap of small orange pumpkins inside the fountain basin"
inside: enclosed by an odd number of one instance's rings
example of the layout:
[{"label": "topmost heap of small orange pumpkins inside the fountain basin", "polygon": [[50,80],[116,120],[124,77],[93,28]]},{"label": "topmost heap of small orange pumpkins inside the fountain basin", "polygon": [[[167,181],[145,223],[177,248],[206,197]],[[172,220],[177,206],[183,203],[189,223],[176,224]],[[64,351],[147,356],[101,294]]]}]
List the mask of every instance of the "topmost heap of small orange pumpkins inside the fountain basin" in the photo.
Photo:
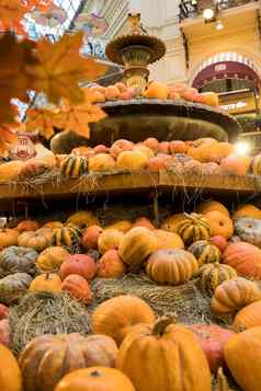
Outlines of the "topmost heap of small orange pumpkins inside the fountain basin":
[{"label": "topmost heap of small orange pumpkins inside the fountain basin", "polygon": [[200,93],[196,89],[184,83],[173,83],[167,85],[158,81],[148,83],[141,96],[135,88],[127,87],[122,82],[113,85],[102,87],[99,84],[92,85],[89,91],[92,93],[93,103],[104,103],[106,101],[128,101],[132,99],[150,99],[150,100],[184,100],[205,104],[208,106],[218,106],[218,95],[215,92]]}]

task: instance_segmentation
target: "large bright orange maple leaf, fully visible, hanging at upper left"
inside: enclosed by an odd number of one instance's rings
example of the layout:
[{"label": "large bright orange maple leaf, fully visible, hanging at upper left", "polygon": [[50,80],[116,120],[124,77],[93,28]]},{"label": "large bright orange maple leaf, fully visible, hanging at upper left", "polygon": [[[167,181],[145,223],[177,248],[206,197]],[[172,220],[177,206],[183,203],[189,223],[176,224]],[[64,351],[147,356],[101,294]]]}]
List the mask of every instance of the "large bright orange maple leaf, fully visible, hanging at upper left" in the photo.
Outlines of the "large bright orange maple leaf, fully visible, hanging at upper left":
[{"label": "large bright orange maple leaf, fully visible, hanging at upper left", "polygon": [[79,82],[91,81],[104,73],[106,67],[93,58],[81,57],[83,33],[64,35],[57,43],[42,39],[37,43],[36,66],[29,66],[33,90],[45,92],[49,102],[58,103],[61,97],[81,103],[83,94]]}]

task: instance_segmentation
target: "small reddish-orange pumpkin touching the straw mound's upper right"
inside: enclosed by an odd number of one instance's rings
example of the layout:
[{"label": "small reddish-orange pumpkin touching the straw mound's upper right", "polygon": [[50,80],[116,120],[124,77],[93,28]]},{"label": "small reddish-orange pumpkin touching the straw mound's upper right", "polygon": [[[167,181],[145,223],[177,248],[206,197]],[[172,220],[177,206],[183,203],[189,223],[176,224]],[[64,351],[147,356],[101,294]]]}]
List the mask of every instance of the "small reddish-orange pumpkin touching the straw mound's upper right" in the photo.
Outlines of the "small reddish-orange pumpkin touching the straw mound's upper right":
[{"label": "small reddish-orange pumpkin touching the straw mound's upper right", "polygon": [[61,290],[68,292],[72,298],[84,304],[92,302],[92,292],[89,284],[86,278],[78,274],[67,276],[61,284]]}]

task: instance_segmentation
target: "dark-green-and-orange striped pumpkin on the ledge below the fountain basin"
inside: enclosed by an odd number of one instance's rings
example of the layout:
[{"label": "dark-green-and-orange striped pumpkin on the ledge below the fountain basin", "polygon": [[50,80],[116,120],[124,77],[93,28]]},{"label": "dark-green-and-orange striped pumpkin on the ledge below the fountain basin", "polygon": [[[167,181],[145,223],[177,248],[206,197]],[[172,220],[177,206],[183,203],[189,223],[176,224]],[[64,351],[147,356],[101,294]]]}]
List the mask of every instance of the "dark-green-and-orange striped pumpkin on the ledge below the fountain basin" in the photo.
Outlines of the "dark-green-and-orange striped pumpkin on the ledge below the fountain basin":
[{"label": "dark-green-and-orange striped pumpkin on the ledge below the fountain basin", "polygon": [[60,174],[65,177],[78,177],[88,172],[88,160],[69,154],[61,163]]}]

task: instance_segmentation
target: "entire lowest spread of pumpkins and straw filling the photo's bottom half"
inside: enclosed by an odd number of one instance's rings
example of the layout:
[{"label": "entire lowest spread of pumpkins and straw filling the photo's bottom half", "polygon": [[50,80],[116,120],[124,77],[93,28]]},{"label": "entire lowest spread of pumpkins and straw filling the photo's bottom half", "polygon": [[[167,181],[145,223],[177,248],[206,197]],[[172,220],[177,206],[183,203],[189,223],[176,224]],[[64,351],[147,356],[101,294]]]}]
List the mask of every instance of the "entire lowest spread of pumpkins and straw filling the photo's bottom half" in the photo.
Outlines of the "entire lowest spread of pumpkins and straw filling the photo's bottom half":
[{"label": "entire lowest spread of pumpkins and straw filling the photo's bottom half", "polygon": [[2,389],[258,391],[260,229],[215,200],[158,227],[82,210],[2,229]]}]

